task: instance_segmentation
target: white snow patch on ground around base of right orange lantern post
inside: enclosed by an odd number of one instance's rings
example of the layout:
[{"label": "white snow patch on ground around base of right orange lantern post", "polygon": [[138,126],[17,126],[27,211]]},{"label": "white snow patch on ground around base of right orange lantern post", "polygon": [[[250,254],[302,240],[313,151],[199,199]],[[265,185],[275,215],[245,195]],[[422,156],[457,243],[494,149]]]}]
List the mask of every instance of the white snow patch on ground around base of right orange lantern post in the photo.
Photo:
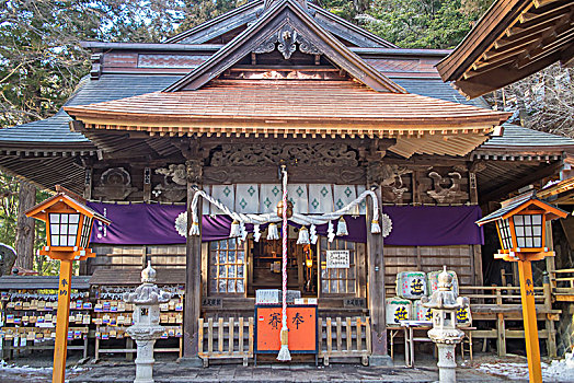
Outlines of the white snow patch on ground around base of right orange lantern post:
[{"label": "white snow patch on ground around base of right orange lantern post", "polygon": [[[567,359],[554,360],[550,365],[542,362],[542,380],[544,382],[574,382],[574,365],[572,364]],[[527,363],[482,363],[479,370],[510,380],[528,380]]]}]

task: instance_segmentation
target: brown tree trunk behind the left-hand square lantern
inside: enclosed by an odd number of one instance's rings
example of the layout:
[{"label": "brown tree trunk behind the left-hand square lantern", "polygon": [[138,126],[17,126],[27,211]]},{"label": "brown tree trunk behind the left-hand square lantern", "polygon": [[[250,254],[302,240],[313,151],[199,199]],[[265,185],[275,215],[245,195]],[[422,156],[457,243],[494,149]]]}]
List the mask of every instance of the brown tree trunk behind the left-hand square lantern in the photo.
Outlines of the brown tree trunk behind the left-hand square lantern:
[{"label": "brown tree trunk behind the left-hand square lantern", "polygon": [[15,266],[33,269],[34,267],[34,228],[35,220],[27,218],[24,211],[36,205],[36,187],[21,182],[18,206],[18,225],[15,249],[18,254]]}]

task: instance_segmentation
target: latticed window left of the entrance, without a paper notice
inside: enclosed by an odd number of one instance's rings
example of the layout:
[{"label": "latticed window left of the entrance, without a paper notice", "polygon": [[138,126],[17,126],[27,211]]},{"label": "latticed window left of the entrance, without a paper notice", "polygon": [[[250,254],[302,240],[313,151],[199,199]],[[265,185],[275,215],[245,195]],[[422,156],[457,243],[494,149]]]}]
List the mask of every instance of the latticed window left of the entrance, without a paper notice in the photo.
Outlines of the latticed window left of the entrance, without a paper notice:
[{"label": "latticed window left of the entrance, without a paper notice", "polygon": [[245,248],[237,239],[209,243],[209,292],[245,292]]}]

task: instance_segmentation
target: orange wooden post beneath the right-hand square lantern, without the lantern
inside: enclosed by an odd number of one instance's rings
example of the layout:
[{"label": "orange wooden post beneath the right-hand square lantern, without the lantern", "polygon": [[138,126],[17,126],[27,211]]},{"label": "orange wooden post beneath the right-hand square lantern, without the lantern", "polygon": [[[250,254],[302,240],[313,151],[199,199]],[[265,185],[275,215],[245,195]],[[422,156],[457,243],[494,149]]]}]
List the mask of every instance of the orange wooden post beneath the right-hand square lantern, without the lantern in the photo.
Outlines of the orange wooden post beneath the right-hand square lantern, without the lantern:
[{"label": "orange wooden post beneath the right-hand square lantern, without the lantern", "polygon": [[531,383],[541,383],[540,345],[538,343],[538,324],[536,322],[535,290],[530,260],[518,260],[518,274],[520,276],[528,374]]}]

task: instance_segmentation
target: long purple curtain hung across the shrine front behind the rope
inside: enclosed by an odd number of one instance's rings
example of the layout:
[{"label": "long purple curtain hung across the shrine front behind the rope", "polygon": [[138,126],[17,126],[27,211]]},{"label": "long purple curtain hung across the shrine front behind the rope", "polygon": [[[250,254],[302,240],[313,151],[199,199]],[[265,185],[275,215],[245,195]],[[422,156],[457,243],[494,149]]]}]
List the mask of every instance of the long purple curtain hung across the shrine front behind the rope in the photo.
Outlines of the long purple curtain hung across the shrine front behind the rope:
[{"label": "long purple curtain hung across the shrine front behind the rope", "polygon": [[[95,223],[92,243],[123,245],[161,245],[182,244],[185,236],[175,228],[177,216],[185,211],[184,206],[159,204],[115,205],[89,202],[89,206],[112,220],[110,227]],[[389,216],[392,230],[384,239],[389,245],[469,245],[482,244],[482,229],[474,222],[481,218],[478,206],[462,207],[383,207]],[[342,239],[353,242],[367,242],[365,216],[344,217],[348,235]],[[202,222],[202,241],[217,241],[229,236],[231,218],[228,216],[204,216]],[[382,222],[382,220],[381,220]],[[333,225],[336,232],[336,221]],[[289,223],[299,227],[295,223]],[[261,231],[266,225],[261,227]],[[253,225],[246,230],[253,232]],[[328,224],[317,227],[320,235],[326,235]],[[185,231],[185,230],[184,230]]]}]

